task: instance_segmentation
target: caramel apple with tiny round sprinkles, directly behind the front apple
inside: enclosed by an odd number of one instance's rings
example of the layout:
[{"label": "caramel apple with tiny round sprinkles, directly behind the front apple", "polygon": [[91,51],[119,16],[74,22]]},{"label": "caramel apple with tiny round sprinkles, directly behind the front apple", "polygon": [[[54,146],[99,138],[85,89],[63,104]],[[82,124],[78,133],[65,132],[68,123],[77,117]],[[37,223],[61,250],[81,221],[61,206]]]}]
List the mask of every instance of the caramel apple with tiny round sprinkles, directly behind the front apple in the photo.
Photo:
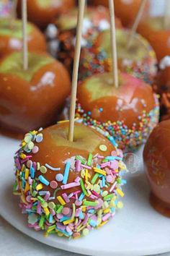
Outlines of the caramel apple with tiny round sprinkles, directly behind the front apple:
[{"label": "caramel apple with tiny round sprinkles, directly behind the front apple", "polygon": [[118,88],[111,73],[89,77],[79,85],[77,98],[76,117],[102,129],[122,150],[138,148],[158,123],[156,94],[150,85],[130,74],[120,72]]}]

